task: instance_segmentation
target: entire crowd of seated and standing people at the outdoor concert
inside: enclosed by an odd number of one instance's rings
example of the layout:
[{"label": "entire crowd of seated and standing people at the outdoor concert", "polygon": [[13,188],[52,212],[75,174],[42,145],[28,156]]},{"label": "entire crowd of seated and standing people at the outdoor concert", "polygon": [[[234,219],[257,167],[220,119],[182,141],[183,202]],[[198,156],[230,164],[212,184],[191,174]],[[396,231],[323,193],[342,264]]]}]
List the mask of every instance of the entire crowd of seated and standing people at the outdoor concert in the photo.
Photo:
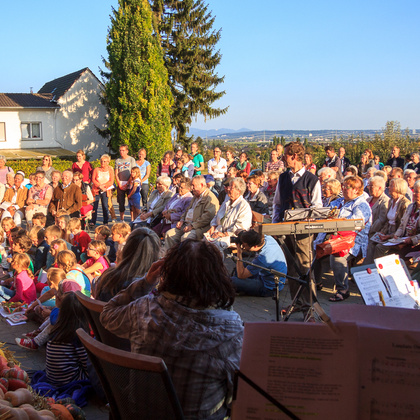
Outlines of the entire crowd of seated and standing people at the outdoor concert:
[{"label": "entire crowd of seated and standing people at the outdoor concert", "polygon": [[[0,156],[0,300],[26,303],[27,313],[39,320],[39,328],[16,343],[30,350],[47,346],[46,380],[54,386],[88,377],[75,334],[79,327],[89,329],[73,293],[81,291],[108,302],[101,321],[129,339],[131,351],[165,360],[186,418],[224,418],[243,334],[232,310],[235,294],[275,296],[286,274],[301,277],[311,268],[315,246],[328,239],[322,233],[314,242],[307,235],[287,236],[289,252],[283,253],[275,238],[253,229],[258,220],[278,223],[287,210],[310,207],[363,219],[351,248],[312,266],[319,290],[323,272],[333,271],[333,302],[349,297],[354,261],[420,251],[419,156],[405,162],[398,147],[385,165],[366,150],[354,166],[343,147],[337,154],[328,146],[322,168],[316,168],[303,145],[291,142],[284,149],[277,145],[258,170],[246,152],[236,159],[231,149],[222,156],[220,147],[206,165],[193,143],[190,153],[164,154],[153,186],[146,150],[139,150],[138,160],[127,146],[119,152],[115,168],[104,154],[93,169],[80,150],[62,173],[45,156],[29,179],[14,174]],[[402,239],[383,245],[391,238]],[[231,275],[224,265],[228,249],[238,257]],[[292,297],[299,284],[289,280]],[[293,311],[305,316],[309,305],[305,288]]]}]

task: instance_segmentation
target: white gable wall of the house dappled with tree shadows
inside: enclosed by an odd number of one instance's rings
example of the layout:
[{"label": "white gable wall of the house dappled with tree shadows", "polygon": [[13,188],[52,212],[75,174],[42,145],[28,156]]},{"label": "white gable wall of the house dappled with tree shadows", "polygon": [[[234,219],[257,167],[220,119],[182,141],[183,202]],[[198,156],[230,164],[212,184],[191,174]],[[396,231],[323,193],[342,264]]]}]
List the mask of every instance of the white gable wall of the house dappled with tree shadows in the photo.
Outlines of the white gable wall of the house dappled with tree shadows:
[{"label": "white gable wall of the house dappled with tree shadows", "polygon": [[105,127],[106,108],[100,103],[99,92],[99,81],[85,71],[58,102],[57,133],[61,134],[57,141],[74,152],[83,149],[93,159],[108,153],[107,140],[95,129]]}]

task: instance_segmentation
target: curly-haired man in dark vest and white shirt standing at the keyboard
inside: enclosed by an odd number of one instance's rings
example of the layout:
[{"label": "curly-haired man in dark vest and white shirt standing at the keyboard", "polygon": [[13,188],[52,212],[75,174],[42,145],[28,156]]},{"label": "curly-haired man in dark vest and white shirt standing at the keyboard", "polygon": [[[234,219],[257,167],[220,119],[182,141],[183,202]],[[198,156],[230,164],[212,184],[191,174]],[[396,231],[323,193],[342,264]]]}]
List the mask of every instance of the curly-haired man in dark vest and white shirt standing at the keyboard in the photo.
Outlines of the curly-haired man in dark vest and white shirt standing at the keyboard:
[{"label": "curly-haired man in dark vest and white shirt standing at the keyboard", "polygon": [[[292,208],[322,207],[321,184],[318,178],[305,169],[303,158],[305,148],[299,142],[291,142],[284,148],[283,160],[288,168],[280,175],[273,203],[273,223],[283,221],[285,210]],[[306,274],[311,265],[310,249],[312,240],[308,235],[286,236],[290,253],[296,256],[299,269]],[[287,262],[288,274],[299,277],[294,264]],[[289,280],[290,294],[296,295],[299,283]],[[304,317],[309,310],[309,288],[305,288],[296,303],[295,311],[302,311]]]}]

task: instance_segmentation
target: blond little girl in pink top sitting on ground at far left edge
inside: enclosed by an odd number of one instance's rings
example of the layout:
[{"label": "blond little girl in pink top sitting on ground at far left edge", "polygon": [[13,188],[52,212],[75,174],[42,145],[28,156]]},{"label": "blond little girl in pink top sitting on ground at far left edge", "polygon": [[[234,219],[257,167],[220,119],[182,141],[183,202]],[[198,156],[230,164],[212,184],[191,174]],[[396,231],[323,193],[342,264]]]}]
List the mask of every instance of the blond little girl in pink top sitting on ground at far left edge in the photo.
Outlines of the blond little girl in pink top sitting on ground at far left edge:
[{"label": "blond little girl in pink top sitting on ground at far left edge", "polygon": [[26,254],[13,255],[11,265],[15,270],[14,284],[10,289],[6,286],[0,286],[0,301],[30,304],[36,299],[33,274],[29,269],[30,264],[31,260]]}]

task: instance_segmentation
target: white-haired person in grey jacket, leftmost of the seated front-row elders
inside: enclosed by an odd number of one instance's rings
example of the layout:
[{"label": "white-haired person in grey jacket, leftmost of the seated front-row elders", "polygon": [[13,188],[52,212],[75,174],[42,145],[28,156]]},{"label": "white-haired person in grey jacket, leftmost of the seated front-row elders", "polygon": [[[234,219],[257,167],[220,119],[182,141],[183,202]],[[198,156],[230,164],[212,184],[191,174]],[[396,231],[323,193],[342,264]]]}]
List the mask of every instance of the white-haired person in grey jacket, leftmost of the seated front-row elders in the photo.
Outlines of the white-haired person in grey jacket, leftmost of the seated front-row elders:
[{"label": "white-haired person in grey jacket, leftmost of the seated front-row elders", "polygon": [[146,207],[137,219],[131,223],[132,229],[135,229],[137,225],[153,227],[160,222],[162,211],[173,195],[173,192],[169,189],[171,182],[171,178],[165,175],[156,179],[156,189],[150,194]]}]

